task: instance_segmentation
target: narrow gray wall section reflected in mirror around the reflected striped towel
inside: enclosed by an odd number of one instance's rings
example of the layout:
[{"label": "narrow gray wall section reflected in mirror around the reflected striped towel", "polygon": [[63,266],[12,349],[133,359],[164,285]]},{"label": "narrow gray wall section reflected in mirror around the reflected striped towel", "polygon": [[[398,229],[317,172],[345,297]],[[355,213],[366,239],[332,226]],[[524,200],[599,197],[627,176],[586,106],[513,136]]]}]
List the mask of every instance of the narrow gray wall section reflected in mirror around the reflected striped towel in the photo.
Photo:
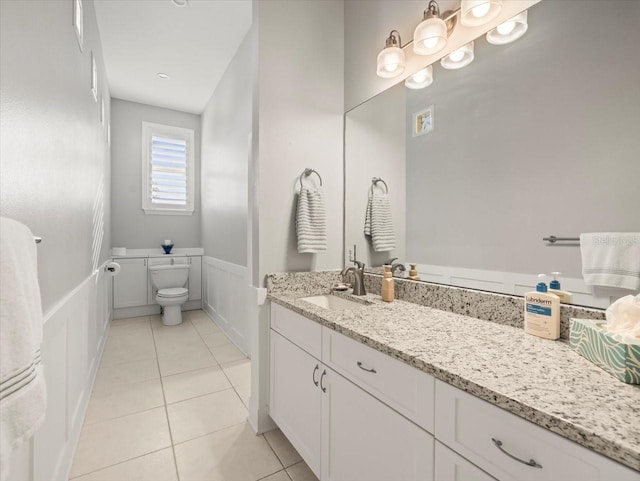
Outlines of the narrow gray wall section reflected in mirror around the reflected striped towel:
[{"label": "narrow gray wall section reflected in mirror around the reflected striped towel", "polygon": [[[397,85],[366,102],[345,117],[345,265],[349,250],[367,266],[380,266],[393,257],[405,259],[405,98]],[[389,189],[396,248],[374,252],[364,236],[364,218],[371,178],[381,177]],[[384,188],[382,184],[379,187]],[[378,187],[376,187],[378,188]]]}]

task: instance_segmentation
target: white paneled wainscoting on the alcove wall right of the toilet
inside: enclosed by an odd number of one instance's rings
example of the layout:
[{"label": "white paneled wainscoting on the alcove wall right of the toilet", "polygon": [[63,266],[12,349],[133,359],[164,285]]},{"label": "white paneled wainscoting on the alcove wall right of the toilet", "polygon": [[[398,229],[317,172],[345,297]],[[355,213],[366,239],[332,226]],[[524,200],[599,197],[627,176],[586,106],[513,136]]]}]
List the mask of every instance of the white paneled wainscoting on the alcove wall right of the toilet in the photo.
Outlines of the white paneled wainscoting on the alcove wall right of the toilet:
[{"label": "white paneled wainscoting on the alcove wall right of the toilet", "polygon": [[[203,257],[203,308],[238,349],[251,354],[249,333],[249,269]],[[255,303],[255,300],[253,301]]]}]

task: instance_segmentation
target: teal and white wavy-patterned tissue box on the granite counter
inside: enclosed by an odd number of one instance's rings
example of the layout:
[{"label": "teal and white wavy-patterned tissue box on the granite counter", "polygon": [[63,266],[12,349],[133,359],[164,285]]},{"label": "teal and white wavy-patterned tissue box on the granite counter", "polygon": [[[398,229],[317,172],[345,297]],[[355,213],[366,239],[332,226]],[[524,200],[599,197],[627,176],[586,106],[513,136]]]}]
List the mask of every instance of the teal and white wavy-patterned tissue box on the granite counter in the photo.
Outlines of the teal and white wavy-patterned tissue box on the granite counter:
[{"label": "teal and white wavy-patterned tissue box on the granite counter", "polygon": [[605,321],[570,322],[570,343],[578,354],[623,382],[640,384],[640,341],[605,331]]}]

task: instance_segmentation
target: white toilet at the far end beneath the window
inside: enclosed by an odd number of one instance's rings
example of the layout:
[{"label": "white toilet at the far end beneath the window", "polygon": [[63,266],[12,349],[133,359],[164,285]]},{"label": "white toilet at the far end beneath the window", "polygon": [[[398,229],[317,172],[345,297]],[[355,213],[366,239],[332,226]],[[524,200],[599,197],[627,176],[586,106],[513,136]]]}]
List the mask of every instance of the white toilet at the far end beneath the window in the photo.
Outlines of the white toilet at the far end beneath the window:
[{"label": "white toilet at the far end beneath the window", "polygon": [[182,322],[182,304],[189,298],[184,285],[189,279],[188,264],[149,266],[151,283],[158,289],[156,302],[162,306],[162,323],[175,326]]}]

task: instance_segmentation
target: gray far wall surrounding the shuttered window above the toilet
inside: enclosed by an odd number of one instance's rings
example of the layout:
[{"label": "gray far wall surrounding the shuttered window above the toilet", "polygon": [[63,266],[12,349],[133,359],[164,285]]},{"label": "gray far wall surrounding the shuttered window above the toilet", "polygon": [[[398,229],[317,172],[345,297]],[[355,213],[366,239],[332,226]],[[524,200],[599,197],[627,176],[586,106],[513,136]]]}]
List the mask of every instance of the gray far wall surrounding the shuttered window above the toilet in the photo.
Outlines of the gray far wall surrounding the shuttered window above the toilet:
[{"label": "gray far wall surrounding the shuttered window above the toilet", "polygon": [[[199,247],[200,116],[115,98],[112,112],[112,245],[142,249],[171,239],[176,247]],[[142,210],[142,122],[195,131],[193,215],[146,215]]]}]

